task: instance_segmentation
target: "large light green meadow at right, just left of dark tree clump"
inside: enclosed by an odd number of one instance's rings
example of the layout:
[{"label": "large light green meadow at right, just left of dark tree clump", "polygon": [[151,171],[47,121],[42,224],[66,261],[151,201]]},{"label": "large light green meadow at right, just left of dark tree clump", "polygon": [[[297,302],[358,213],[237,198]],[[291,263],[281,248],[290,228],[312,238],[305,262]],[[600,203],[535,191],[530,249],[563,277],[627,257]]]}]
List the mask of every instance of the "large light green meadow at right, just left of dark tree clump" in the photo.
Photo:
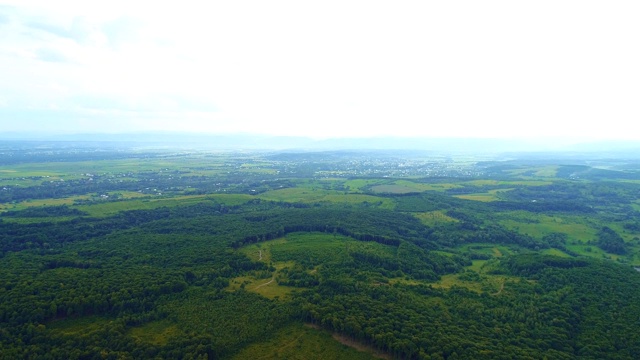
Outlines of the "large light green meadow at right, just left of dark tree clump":
[{"label": "large light green meadow at right, just left of dark tree clump", "polygon": [[[527,216],[528,219],[522,222],[513,219],[500,220],[499,222],[508,229],[537,238],[557,232],[567,234],[569,238],[574,240],[589,241],[593,240],[598,232],[595,228],[581,223],[578,219],[543,214],[528,214]],[[529,222],[531,220],[537,222],[531,223]]]}]

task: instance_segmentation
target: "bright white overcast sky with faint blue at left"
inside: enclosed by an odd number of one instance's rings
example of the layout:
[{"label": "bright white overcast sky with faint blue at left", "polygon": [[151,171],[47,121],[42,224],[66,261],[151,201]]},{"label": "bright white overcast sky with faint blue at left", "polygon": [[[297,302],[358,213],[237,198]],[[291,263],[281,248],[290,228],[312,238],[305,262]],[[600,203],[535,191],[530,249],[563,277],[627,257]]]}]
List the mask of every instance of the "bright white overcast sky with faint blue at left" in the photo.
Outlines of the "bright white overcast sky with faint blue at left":
[{"label": "bright white overcast sky with faint blue at left", "polygon": [[637,0],[0,0],[0,134],[640,140],[639,18]]}]

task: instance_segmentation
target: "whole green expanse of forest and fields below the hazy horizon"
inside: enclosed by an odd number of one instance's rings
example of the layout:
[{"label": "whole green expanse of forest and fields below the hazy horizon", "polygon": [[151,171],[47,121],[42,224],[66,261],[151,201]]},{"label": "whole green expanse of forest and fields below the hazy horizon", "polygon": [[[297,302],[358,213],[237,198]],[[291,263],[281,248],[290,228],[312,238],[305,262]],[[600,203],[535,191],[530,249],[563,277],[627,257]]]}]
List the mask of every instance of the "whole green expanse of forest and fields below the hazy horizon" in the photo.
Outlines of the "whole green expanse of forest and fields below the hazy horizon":
[{"label": "whole green expanse of forest and fields below the hazy horizon", "polygon": [[0,160],[2,359],[640,354],[631,160]]}]

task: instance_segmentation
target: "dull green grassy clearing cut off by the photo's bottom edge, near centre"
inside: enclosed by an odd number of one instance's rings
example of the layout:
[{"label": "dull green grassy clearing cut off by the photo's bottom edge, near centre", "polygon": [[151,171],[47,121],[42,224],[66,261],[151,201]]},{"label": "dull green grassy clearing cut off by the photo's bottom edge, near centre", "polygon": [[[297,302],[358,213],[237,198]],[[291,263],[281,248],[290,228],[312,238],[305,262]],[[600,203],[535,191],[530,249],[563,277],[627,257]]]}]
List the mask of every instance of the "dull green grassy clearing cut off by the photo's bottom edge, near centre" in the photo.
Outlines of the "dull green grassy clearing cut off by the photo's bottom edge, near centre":
[{"label": "dull green grassy clearing cut off by the photo's bottom edge, near centre", "polygon": [[[371,360],[387,358],[361,344],[342,344],[332,334],[313,325],[291,324],[278,330],[269,340],[248,345],[233,360]],[[360,351],[359,351],[359,350]]]}]

